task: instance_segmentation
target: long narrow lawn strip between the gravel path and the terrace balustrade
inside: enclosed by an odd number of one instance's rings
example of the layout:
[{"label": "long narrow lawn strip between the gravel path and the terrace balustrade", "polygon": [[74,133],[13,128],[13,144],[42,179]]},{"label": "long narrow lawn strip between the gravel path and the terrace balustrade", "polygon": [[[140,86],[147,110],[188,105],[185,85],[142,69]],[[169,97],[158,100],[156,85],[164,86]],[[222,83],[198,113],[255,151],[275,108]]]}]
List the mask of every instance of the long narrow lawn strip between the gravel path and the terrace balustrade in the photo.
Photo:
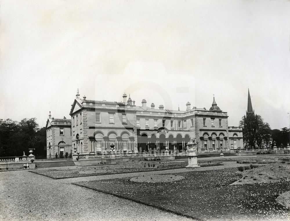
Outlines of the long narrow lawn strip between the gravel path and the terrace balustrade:
[{"label": "long narrow lawn strip between the gravel path and the terrace balustrade", "polygon": [[[106,174],[118,174],[118,173],[135,173],[146,172],[166,169],[178,169],[185,168],[188,162],[148,162],[148,161],[135,161],[135,162],[123,162],[116,165],[98,165],[93,167],[76,167],[76,169],[36,169],[30,170],[32,173],[48,176],[53,179],[75,178],[84,176],[98,176]],[[201,167],[219,166],[221,162],[213,163],[199,163]]]}]

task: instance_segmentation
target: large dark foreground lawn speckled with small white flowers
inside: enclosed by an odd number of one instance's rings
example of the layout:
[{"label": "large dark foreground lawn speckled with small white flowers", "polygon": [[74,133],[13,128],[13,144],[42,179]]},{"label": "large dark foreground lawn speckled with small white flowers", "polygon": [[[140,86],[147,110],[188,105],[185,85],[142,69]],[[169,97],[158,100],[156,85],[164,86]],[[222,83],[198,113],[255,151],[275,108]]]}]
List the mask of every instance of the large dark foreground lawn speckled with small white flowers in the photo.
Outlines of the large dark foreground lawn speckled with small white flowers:
[{"label": "large dark foreground lawn speckled with small white flowers", "polygon": [[131,182],[130,178],[117,178],[78,182],[76,185],[197,220],[289,217],[289,210],[275,200],[281,193],[289,191],[289,182],[229,186],[242,177],[236,171],[236,168],[231,168],[175,173],[186,177],[175,182],[139,183]]}]

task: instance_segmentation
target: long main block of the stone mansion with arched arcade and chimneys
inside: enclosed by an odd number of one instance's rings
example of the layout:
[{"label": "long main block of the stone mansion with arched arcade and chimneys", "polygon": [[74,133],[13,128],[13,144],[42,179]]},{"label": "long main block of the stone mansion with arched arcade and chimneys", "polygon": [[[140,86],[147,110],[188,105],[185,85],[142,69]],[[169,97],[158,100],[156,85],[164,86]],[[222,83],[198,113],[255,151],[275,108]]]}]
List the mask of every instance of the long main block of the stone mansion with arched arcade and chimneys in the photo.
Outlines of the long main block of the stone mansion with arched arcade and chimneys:
[{"label": "long main block of the stone mansion with arched arcade and chimneys", "polygon": [[[197,142],[197,151],[219,152],[243,148],[242,128],[229,127],[227,112],[213,100],[212,106],[186,111],[167,110],[163,105],[155,109],[136,106],[130,96],[123,102],[80,99],[79,93],[72,104],[72,147],[78,153],[103,153],[115,145],[115,152],[143,152],[165,150],[183,152],[190,138]],[[231,145],[232,144],[232,145]]]}]

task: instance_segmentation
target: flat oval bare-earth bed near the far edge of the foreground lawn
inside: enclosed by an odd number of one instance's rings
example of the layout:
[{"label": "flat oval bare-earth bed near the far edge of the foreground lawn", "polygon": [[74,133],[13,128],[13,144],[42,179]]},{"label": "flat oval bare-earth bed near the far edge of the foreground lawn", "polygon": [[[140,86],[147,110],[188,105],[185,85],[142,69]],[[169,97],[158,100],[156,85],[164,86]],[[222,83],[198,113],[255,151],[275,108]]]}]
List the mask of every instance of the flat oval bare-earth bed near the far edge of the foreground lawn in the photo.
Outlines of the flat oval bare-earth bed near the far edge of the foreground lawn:
[{"label": "flat oval bare-earth bed near the far edge of the foreground lawn", "polygon": [[136,176],[130,179],[131,182],[139,183],[159,183],[159,182],[174,182],[185,179],[184,176],[164,174],[164,175],[148,175],[148,176]]}]

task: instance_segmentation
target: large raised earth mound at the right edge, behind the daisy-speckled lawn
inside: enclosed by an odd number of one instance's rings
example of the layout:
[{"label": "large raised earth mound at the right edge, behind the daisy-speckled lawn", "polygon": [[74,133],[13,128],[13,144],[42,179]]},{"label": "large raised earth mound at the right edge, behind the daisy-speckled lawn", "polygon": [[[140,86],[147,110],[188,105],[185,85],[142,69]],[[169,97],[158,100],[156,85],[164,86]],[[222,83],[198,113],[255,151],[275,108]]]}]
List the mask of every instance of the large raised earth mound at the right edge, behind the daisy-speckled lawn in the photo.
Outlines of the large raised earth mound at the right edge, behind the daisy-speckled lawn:
[{"label": "large raised earth mound at the right edge, behind the daisy-speckled lawn", "polygon": [[290,181],[290,165],[283,163],[266,164],[262,167],[239,172],[242,178],[230,185],[252,184],[252,183],[269,183],[279,182],[282,180]]}]

